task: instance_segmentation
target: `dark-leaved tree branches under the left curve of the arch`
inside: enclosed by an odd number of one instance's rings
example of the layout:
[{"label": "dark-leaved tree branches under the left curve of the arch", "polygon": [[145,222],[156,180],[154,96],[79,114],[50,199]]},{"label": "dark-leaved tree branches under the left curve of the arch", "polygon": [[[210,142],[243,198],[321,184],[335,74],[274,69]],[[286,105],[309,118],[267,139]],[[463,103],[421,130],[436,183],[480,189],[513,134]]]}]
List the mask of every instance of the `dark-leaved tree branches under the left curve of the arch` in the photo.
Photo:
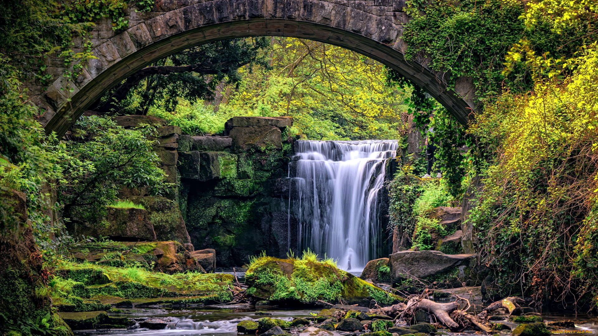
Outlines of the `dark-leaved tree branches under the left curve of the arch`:
[{"label": "dark-leaved tree branches under the left curve of the arch", "polygon": [[212,99],[218,85],[237,84],[239,68],[267,66],[266,38],[237,38],[199,45],[130,75],[96,103],[96,111],[145,115],[151,106],[173,111],[179,98]]}]

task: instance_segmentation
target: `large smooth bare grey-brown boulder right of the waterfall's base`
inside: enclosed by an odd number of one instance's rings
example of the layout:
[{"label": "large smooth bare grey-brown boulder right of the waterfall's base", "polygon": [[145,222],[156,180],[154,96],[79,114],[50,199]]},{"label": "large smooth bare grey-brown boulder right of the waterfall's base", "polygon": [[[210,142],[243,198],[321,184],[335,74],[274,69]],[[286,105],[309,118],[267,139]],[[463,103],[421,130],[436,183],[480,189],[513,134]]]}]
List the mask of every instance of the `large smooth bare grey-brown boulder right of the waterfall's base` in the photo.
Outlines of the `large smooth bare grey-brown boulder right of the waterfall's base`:
[{"label": "large smooth bare grey-brown boulder right of the waterfall's base", "polygon": [[443,276],[469,265],[473,254],[447,255],[440,251],[400,251],[389,256],[390,278],[393,282],[403,279],[428,279]]}]

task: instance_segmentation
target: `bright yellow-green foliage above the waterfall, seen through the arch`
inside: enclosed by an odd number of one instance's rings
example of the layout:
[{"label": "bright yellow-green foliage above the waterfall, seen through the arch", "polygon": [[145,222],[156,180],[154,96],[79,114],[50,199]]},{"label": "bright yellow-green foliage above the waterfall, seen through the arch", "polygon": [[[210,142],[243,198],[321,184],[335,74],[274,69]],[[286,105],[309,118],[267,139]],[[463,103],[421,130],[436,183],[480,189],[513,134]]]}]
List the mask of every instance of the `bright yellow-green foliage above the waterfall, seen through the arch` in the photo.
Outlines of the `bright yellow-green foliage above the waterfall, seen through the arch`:
[{"label": "bright yellow-green foliage above the waterfall, seen through the arch", "polygon": [[180,123],[190,134],[219,133],[233,116],[293,117],[289,135],[315,140],[399,139],[405,133],[401,114],[411,89],[386,86],[380,63],[321,42],[270,42],[263,55],[268,66],[240,68],[240,81],[220,85],[214,99],[178,99],[174,117],[158,103],[149,114]]}]

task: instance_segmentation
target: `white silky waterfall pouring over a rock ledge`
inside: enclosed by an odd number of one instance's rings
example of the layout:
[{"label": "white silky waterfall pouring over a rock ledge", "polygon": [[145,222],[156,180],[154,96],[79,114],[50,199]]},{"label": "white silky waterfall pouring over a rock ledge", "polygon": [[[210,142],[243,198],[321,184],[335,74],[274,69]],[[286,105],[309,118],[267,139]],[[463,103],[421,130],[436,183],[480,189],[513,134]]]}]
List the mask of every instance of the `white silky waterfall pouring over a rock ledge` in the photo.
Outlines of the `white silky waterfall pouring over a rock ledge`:
[{"label": "white silky waterfall pouring over a rock ledge", "polygon": [[289,167],[289,218],[301,248],[328,256],[344,270],[364,268],[380,243],[380,190],[396,140],[295,143]]}]

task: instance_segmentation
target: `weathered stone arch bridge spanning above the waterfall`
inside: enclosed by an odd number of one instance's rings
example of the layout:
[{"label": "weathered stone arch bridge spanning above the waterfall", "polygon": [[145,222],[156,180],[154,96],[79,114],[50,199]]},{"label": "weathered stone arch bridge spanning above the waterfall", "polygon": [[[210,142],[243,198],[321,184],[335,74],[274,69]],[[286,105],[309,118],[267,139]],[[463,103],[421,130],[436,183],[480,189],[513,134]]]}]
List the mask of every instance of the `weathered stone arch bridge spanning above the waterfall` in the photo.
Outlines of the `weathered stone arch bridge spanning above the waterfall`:
[{"label": "weathered stone arch bridge spanning above the waterfall", "polygon": [[[443,74],[428,60],[405,60],[402,41],[410,19],[404,0],[161,0],[151,12],[129,8],[129,29],[114,32],[107,20],[91,32],[97,59],[77,80],[60,77],[62,62],[50,61],[56,78],[49,87],[30,87],[45,109],[40,121],[63,135],[106,90],[148,63],[194,45],[246,36],[286,36],[338,45],[378,60],[425,88],[461,123],[475,110],[471,79],[447,90]],[[64,90],[70,87],[73,90]]]}]

